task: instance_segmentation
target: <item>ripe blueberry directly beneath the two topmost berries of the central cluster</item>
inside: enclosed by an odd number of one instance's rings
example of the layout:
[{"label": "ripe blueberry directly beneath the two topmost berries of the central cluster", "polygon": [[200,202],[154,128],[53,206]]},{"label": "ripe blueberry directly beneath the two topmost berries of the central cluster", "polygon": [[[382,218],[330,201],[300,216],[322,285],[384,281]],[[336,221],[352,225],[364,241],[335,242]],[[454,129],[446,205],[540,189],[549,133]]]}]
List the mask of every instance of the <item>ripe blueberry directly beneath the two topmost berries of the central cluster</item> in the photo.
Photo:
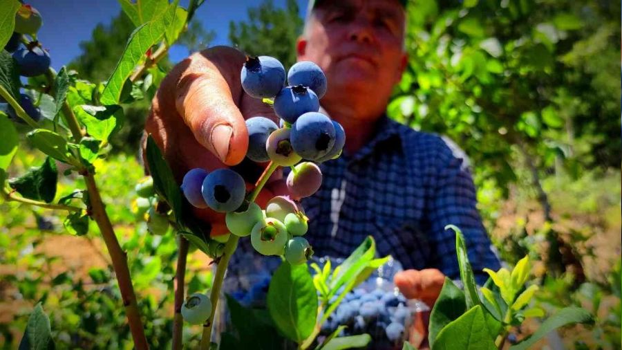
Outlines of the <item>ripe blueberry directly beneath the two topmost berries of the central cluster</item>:
[{"label": "ripe blueberry directly beneath the two topmost berries of the central cluster", "polygon": [[286,122],[294,123],[307,112],[319,111],[317,95],[305,86],[286,86],[274,98],[274,113]]}]

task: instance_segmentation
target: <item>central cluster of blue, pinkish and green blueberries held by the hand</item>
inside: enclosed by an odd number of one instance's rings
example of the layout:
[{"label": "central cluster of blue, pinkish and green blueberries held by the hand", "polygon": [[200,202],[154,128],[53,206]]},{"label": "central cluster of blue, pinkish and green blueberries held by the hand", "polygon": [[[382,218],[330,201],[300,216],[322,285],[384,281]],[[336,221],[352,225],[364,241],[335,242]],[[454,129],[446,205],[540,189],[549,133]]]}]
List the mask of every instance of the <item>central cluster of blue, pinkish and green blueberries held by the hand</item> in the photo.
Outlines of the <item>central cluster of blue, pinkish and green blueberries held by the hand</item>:
[{"label": "central cluster of blue, pinkish and green blueberries held by the hand", "polygon": [[[322,183],[313,162],[337,158],[346,142],[339,123],[319,113],[319,98],[326,93],[326,77],[312,62],[294,64],[285,86],[285,68],[274,57],[248,57],[241,71],[242,86],[253,98],[273,104],[281,126],[264,116],[246,120],[249,136],[247,158],[254,162],[292,167],[287,186],[291,196],[276,196],[262,210],[248,201],[246,183],[232,169],[191,169],[181,190],[191,205],[225,213],[230,234],[250,236],[262,255],[280,255],[290,264],[304,264],[312,256],[302,236],[308,218],[299,202]],[[274,100],[271,100],[274,98]],[[303,158],[305,161],[303,161]]]}]

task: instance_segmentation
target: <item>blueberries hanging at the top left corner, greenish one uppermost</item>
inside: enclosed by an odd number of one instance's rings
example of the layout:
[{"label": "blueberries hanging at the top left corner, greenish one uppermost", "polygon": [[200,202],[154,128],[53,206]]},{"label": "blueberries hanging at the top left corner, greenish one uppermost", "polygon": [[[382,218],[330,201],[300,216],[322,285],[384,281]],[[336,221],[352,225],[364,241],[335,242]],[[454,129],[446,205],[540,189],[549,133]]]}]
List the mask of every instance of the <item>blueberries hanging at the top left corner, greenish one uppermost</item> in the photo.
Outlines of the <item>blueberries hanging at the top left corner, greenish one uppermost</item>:
[{"label": "blueberries hanging at the top left corner, greenish one uppermost", "polygon": [[[12,53],[13,59],[19,68],[20,75],[35,77],[44,74],[50,68],[50,55],[41,48],[41,44],[35,39],[43,21],[37,9],[28,4],[22,4],[15,14],[15,28],[4,50]],[[26,37],[30,36],[30,40]],[[19,101],[21,108],[35,122],[41,120],[41,110],[32,103],[30,96],[21,93]],[[5,112],[12,120],[21,122],[15,109],[0,98],[0,110]]]}]

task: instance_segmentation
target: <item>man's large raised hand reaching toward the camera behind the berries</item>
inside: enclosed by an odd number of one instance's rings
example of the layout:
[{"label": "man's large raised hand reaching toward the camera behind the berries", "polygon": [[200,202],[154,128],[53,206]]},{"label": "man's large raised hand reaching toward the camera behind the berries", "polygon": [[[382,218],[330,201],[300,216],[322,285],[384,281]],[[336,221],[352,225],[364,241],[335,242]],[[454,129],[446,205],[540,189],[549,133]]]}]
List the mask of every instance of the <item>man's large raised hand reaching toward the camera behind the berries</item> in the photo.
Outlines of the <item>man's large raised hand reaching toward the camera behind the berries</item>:
[{"label": "man's large raised hand reaching toward the camera behind the berries", "polygon": [[[184,59],[162,80],[144,129],[162,149],[178,183],[196,167],[211,171],[238,165],[248,148],[245,119],[278,120],[270,106],[243,91],[240,71],[245,61],[246,56],[235,48],[209,48]],[[236,170],[249,182],[250,190],[263,167],[250,163]],[[279,178],[281,172],[270,182]],[[271,189],[281,192],[284,187],[278,181],[269,183],[257,203],[263,207],[276,195]],[[194,214],[211,223],[212,236],[227,232],[224,214],[197,208]]]}]

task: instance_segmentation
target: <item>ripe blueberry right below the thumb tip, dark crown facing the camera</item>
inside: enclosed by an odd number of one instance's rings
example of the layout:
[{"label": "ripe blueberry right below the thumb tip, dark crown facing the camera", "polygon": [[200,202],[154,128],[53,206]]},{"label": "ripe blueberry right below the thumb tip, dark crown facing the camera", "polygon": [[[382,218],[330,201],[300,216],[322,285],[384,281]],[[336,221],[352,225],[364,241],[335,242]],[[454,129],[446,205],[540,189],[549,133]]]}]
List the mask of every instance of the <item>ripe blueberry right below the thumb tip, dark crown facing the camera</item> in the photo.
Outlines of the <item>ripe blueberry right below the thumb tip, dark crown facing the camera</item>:
[{"label": "ripe blueberry right below the thumb tip, dark crown facing the camera", "polygon": [[218,169],[205,176],[201,191],[209,208],[216,212],[232,212],[242,205],[246,184],[232,169]]}]

